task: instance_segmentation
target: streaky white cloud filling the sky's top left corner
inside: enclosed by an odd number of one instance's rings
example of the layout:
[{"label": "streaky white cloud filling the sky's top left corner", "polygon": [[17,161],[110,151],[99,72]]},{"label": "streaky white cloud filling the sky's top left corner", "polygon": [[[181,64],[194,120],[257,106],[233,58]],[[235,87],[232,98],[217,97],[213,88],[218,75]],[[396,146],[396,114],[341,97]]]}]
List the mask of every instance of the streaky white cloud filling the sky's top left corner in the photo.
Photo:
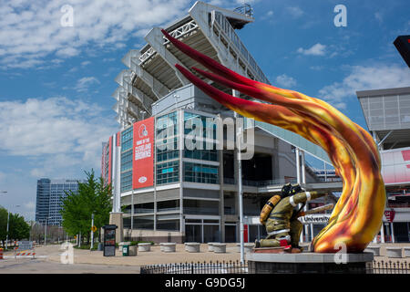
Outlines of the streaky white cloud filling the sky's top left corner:
[{"label": "streaky white cloud filling the sky's top left corner", "polygon": [[[73,26],[62,26],[63,5]],[[189,0],[22,0],[0,5],[0,67],[32,68],[46,57],[74,57],[83,47],[124,47],[129,36],[185,15]],[[63,17],[64,18],[64,17]]]}]

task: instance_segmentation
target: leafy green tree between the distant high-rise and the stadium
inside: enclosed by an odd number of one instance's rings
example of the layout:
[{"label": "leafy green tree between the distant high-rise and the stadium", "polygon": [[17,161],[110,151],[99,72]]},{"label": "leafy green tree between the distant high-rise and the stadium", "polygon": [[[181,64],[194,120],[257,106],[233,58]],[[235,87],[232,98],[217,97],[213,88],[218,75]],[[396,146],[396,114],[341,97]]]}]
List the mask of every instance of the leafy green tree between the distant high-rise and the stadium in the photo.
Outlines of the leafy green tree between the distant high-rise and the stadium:
[{"label": "leafy green tree between the distant high-rise and the stadium", "polygon": [[69,235],[81,233],[89,243],[91,214],[94,214],[94,225],[99,236],[100,228],[108,224],[109,212],[112,209],[111,185],[106,185],[102,178],[95,177],[94,171],[86,172],[87,183],[78,183],[77,193],[67,192],[62,199],[62,225]]}]

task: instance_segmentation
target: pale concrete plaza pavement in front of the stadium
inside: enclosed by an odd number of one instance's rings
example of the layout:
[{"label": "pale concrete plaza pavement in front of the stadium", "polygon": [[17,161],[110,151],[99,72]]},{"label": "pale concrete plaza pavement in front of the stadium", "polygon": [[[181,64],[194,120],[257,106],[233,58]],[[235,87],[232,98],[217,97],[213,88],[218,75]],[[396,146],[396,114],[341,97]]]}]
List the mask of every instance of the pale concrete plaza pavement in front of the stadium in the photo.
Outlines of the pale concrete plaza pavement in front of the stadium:
[{"label": "pale concrete plaza pavement in front of the stadium", "polygon": [[[381,256],[375,261],[409,262],[409,257],[389,258],[386,247],[405,247],[409,244],[381,244]],[[149,252],[138,252],[137,256],[123,256],[118,249],[116,256],[103,256],[101,251],[74,249],[74,264],[62,264],[61,245],[36,247],[36,259],[15,258],[13,252],[6,252],[5,259],[0,260],[0,274],[135,274],[140,266],[168,263],[197,263],[210,261],[239,261],[241,254],[236,244],[227,244],[226,253],[216,254],[208,251],[208,245],[200,245],[200,253],[189,253],[184,245],[177,245],[176,252],[164,253],[159,245],[151,246]],[[246,255],[245,255],[246,259]]]}]

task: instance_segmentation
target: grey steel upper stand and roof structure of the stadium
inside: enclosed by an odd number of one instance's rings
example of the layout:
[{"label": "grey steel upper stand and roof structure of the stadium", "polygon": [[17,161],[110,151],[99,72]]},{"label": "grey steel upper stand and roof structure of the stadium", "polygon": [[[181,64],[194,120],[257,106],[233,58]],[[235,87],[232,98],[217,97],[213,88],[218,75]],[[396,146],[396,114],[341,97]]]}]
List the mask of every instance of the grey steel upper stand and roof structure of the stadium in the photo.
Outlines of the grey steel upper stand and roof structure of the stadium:
[{"label": "grey steel upper stand and roof structure of the stadium", "polygon": [[[251,15],[249,5],[231,11],[198,1],[190,8],[187,16],[175,20],[164,29],[171,36],[237,73],[270,84],[269,79],[263,74],[235,32],[235,29],[241,29],[254,21]],[[123,57],[122,62],[127,69],[122,70],[116,78],[119,86],[112,95],[117,99],[113,110],[117,112],[116,119],[121,130],[128,128],[137,120],[152,116],[152,106],[156,101],[190,84],[190,81],[175,68],[175,64],[184,68],[205,69],[171,45],[162,35],[160,27],[153,27],[144,38],[147,41],[146,45],[140,49],[129,50]],[[210,84],[232,94],[232,89],[212,82]],[[241,98],[249,99],[242,94]],[[322,148],[290,131],[260,122],[255,124],[255,127],[266,130],[283,141],[330,163],[327,153]]]}]

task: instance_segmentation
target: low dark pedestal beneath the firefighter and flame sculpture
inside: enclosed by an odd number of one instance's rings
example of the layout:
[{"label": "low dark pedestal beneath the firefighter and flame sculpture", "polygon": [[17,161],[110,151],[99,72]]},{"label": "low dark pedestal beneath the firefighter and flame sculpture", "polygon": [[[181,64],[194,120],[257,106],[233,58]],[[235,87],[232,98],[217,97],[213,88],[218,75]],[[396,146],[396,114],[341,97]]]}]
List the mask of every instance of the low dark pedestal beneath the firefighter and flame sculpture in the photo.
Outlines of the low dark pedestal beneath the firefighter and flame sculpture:
[{"label": "low dark pedestal beneath the firefighter and flame sculpture", "polygon": [[251,274],[369,274],[372,273],[373,253],[319,254],[288,253],[273,249],[256,249],[246,254]]}]

